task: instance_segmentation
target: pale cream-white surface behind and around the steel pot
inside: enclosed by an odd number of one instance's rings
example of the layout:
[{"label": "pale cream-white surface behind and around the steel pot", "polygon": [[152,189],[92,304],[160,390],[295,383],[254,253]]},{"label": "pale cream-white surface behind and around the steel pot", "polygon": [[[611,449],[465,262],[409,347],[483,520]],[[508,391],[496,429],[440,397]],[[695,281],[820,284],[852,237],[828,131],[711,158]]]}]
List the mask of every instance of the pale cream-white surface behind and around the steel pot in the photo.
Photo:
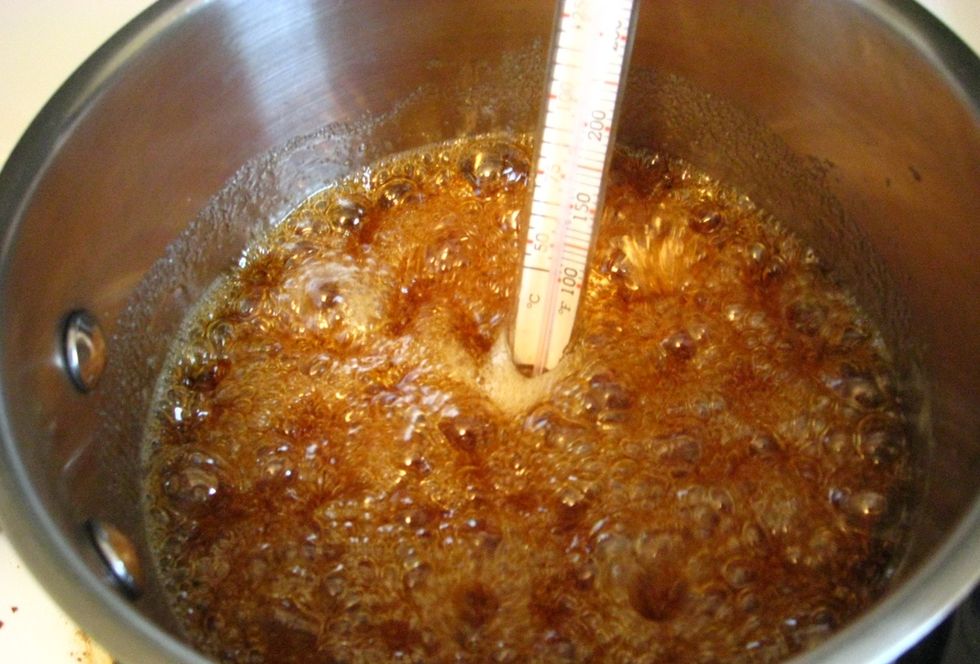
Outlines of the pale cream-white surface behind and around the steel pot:
[{"label": "pale cream-white surface behind and around the steel pot", "polygon": [[[0,0],[0,162],[41,106],[148,0]],[[980,53],[980,0],[921,0]],[[109,662],[48,599],[0,533],[0,662]]]}]

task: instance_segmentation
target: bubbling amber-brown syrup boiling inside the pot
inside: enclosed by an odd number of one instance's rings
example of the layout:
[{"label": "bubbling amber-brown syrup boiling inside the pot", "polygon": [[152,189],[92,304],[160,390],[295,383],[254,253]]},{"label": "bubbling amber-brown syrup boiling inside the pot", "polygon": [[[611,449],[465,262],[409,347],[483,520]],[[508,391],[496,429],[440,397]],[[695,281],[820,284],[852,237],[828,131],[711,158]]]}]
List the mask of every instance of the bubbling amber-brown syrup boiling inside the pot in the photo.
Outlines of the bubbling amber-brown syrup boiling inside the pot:
[{"label": "bubbling amber-brown syrup boiling inside the pot", "polygon": [[146,441],[157,565],[229,662],[768,661],[890,573],[907,431],[796,238],[621,150],[576,333],[506,341],[530,145],[380,163],[249,247]]}]

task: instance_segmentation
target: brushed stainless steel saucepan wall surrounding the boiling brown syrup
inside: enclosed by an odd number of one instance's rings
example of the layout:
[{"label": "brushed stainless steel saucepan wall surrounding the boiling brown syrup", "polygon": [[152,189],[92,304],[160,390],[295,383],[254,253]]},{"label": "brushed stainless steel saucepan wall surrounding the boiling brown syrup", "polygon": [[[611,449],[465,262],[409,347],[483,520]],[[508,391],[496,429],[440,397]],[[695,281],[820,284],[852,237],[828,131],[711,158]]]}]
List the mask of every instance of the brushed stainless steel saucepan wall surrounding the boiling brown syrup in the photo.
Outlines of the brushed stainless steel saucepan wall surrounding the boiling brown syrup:
[{"label": "brushed stainless steel saucepan wall surrounding the boiling brown syrup", "polygon": [[[551,11],[165,2],[86,63],[15,149],[0,174],[0,512],[32,570],[122,661],[204,661],[149,567],[135,602],[103,583],[83,525],[114,524],[147,559],[137,445],[167,334],[244,225],[349,165],[531,129],[540,63],[520,54],[540,51]],[[893,590],[803,657],[893,659],[980,576],[980,64],[911,2],[648,0],[633,65],[621,138],[693,161],[807,237],[928,383],[934,444]],[[366,113],[382,117],[260,160],[198,216],[250,159]],[[53,334],[79,306],[112,359],[84,396]]]}]

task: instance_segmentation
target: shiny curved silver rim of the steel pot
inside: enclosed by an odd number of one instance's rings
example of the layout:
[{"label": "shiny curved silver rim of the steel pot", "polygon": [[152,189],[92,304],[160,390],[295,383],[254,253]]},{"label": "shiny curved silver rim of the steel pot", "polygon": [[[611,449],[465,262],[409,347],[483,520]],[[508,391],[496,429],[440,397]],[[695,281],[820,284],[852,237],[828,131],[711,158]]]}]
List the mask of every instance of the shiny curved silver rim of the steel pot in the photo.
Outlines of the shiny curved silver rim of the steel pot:
[{"label": "shiny curved silver rim of the steel pot", "polygon": [[[160,0],[90,56],[33,120],[0,171],[0,270],[36,186],[37,176],[85,110],[118,72],[149,44],[177,29],[207,0]],[[909,42],[944,77],[980,122],[980,59],[937,18],[912,0],[854,0]],[[0,279],[3,279],[0,273]],[[2,340],[0,340],[2,344]],[[3,353],[0,347],[0,354]],[[209,660],[139,612],[73,552],[70,538],[43,509],[25,480],[0,381],[0,520],[11,543],[45,590],[96,641],[122,660]],[[77,537],[83,536],[81,524]],[[980,580],[980,497],[947,541],[920,569],[859,619],[793,661],[890,662],[932,630]]]}]

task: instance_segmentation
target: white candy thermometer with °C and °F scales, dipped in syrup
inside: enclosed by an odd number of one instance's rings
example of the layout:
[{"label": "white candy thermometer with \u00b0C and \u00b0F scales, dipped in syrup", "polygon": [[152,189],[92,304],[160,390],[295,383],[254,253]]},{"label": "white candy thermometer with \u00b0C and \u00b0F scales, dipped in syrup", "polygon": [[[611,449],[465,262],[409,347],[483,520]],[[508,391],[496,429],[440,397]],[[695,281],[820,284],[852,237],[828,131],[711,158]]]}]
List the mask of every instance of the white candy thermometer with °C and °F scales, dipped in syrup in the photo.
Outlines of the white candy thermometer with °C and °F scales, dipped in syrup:
[{"label": "white candy thermometer with \u00b0C and \u00b0F scales, dipped in syrup", "polygon": [[527,223],[513,354],[553,369],[572,335],[612,153],[634,24],[633,0],[564,0]]}]

